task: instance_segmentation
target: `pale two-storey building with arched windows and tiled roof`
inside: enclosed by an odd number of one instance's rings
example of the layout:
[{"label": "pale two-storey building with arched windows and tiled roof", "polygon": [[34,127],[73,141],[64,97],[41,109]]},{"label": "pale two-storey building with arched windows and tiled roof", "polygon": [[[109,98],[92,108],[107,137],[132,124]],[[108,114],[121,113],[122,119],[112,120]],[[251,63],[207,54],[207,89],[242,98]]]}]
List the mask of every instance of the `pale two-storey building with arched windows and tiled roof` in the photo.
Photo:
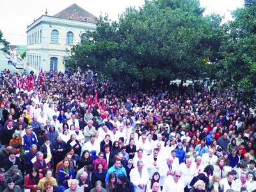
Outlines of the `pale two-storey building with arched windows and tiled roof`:
[{"label": "pale two-storey building with arched windows and tiled roof", "polygon": [[26,69],[38,72],[65,70],[67,49],[86,38],[86,31],[96,29],[97,18],[77,4],[54,16],[42,15],[28,26]]}]

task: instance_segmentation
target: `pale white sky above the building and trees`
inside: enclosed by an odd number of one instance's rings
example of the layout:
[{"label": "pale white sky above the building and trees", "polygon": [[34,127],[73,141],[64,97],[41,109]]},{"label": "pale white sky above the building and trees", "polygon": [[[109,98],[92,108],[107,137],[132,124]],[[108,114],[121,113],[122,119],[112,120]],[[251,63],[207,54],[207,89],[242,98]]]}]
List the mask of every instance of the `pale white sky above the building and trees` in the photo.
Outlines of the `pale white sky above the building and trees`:
[{"label": "pale white sky above the building and trees", "polygon": [[[231,20],[230,12],[241,8],[243,0],[200,0],[205,14],[219,13],[225,20]],[[26,29],[34,19],[45,14],[54,15],[77,3],[96,17],[107,13],[109,19],[118,20],[118,15],[129,6],[143,6],[144,0],[0,0],[0,30],[12,45],[26,45]]]}]

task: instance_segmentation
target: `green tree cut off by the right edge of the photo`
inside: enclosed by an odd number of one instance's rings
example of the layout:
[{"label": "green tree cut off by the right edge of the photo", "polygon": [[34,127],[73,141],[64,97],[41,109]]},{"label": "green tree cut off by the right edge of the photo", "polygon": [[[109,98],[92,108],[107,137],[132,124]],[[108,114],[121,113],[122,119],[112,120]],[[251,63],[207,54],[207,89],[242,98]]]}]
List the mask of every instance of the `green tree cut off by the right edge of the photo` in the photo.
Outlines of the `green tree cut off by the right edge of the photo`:
[{"label": "green tree cut off by the right edge of the photo", "polygon": [[256,1],[245,0],[225,28],[217,78],[252,102],[256,93]]}]

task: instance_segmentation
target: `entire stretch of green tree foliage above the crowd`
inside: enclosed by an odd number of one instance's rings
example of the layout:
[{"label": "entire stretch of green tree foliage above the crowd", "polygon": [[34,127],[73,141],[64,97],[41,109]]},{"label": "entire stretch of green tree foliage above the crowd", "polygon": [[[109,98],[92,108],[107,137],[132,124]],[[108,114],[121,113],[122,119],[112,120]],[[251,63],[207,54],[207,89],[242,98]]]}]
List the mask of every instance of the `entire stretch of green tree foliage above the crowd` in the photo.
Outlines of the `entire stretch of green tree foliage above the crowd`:
[{"label": "entire stretch of green tree foliage above the crowd", "polygon": [[100,17],[97,29],[72,47],[66,67],[144,88],[210,78],[250,102],[256,93],[255,10],[256,1],[245,0],[234,20],[221,24],[220,15],[203,15],[198,0],[146,0],[118,22]]}]

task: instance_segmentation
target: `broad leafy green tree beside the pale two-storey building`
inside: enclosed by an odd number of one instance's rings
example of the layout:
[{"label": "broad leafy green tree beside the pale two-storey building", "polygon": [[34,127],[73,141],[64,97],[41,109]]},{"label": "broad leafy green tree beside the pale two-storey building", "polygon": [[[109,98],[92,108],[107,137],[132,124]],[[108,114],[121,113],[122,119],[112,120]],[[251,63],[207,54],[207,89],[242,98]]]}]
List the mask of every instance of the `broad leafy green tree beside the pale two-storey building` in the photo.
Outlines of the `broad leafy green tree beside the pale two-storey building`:
[{"label": "broad leafy green tree beside the pale two-storey building", "polygon": [[144,86],[207,77],[205,60],[216,60],[221,18],[203,13],[198,0],[154,0],[127,8],[118,23],[100,17],[96,31],[72,47],[66,67]]}]

